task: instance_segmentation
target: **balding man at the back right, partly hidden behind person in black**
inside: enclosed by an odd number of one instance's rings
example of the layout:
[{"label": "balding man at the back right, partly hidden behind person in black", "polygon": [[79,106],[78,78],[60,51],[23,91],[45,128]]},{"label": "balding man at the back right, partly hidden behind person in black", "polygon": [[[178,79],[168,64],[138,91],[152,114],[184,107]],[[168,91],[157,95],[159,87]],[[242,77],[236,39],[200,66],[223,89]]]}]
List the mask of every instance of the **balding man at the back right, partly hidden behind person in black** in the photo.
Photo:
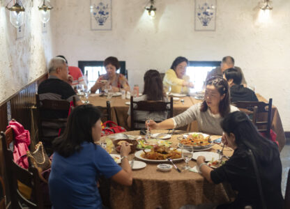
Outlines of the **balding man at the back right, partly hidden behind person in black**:
[{"label": "balding man at the back right, partly hidden behind person in black", "polygon": [[234,65],[235,65],[235,60],[233,57],[224,56],[224,58],[222,58],[222,63],[220,63],[220,66],[211,70],[211,72],[208,72],[208,75],[206,76],[206,81],[211,77],[222,77],[222,73],[224,72],[224,70],[227,70],[229,68],[235,68],[242,75],[241,83],[243,84],[243,86],[247,87],[247,82],[245,81],[245,77],[243,75],[242,69]]}]

